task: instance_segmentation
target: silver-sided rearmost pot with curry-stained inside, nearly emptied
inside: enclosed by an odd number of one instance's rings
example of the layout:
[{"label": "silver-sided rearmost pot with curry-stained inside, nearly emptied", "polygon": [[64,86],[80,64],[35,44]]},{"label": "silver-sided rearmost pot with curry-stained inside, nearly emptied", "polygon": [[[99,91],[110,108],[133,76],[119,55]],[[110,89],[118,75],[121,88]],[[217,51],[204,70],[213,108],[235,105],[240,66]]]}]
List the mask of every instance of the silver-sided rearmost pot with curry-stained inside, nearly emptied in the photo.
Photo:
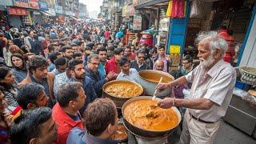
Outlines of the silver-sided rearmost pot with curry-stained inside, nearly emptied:
[{"label": "silver-sided rearmost pot with curry-stained inside, nearly emptied", "polygon": [[[159,70],[141,70],[138,72],[140,76],[140,82],[138,82],[140,85],[142,85],[147,95],[154,94],[154,90],[156,86],[158,85],[158,82],[160,78],[162,77],[162,82],[171,82],[174,81],[174,77],[166,72],[162,72]],[[154,81],[152,81],[154,79]],[[158,97],[166,97],[170,96],[171,89],[166,89],[162,91],[158,91],[157,96]]]}]

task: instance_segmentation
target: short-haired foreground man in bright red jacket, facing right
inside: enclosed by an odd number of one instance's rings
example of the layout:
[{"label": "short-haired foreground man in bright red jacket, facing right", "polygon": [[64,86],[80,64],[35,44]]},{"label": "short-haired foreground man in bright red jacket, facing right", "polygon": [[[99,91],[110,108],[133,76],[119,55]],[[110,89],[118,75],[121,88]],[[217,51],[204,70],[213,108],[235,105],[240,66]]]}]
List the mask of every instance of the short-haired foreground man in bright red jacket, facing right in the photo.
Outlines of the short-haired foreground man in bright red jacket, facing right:
[{"label": "short-haired foreground man in bright red jacket, facing right", "polygon": [[57,94],[58,103],[53,108],[53,118],[58,125],[56,143],[66,144],[70,130],[79,127],[84,130],[82,117],[78,110],[82,109],[86,101],[85,91],[79,82],[65,83],[60,86]]}]

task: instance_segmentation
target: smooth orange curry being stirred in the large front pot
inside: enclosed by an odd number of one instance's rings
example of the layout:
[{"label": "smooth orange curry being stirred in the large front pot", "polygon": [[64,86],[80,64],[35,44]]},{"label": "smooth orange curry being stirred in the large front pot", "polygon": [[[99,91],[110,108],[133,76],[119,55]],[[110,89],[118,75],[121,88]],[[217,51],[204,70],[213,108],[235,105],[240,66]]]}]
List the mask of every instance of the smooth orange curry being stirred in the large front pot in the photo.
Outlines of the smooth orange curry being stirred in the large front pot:
[{"label": "smooth orange curry being stirred in the large front pot", "polygon": [[178,114],[173,109],[156,106],[158,101],[142,99],[130,102],[124,108],[124,117],[130,124],[150,131],[165,131],[178,125]]}]

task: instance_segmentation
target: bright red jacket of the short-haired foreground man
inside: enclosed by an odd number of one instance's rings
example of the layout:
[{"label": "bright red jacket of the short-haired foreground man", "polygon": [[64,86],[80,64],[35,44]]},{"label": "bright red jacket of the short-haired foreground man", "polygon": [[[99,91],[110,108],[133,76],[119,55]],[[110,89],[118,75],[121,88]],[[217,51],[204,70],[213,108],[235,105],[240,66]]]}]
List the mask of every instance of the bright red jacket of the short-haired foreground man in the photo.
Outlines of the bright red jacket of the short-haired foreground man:
[{"label": "bright red jacket of the short-haired foreground man", "polygon": [[62,110],[62,107],[59,106],[58,103],[56,103],[52,110],[52,116],[58,125],[58,138],[55,140],[55,142],[58,144],[66,144],[68,134],[74,127],[79,127],[84,130],[82,120],[74,121],[68,114],[66,114],[64,110]]}]

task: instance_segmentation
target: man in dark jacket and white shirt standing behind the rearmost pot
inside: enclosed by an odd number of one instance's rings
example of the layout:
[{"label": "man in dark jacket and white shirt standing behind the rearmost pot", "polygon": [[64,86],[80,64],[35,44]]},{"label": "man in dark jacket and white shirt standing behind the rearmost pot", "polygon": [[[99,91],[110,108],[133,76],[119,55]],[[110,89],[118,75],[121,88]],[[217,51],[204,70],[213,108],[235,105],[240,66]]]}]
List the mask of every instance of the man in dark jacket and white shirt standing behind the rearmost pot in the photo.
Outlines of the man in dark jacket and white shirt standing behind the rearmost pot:
[{"label": "man in dark jacket and white shirt standing behind the rearmost pot", "polygon": [[137,51],[136,59],[130,62],[130,67],[136,69],[138,72],[140,70],[150,70],[150,66],[144,62],[146,58],[146,52],[144,49],[140,49]]}]

